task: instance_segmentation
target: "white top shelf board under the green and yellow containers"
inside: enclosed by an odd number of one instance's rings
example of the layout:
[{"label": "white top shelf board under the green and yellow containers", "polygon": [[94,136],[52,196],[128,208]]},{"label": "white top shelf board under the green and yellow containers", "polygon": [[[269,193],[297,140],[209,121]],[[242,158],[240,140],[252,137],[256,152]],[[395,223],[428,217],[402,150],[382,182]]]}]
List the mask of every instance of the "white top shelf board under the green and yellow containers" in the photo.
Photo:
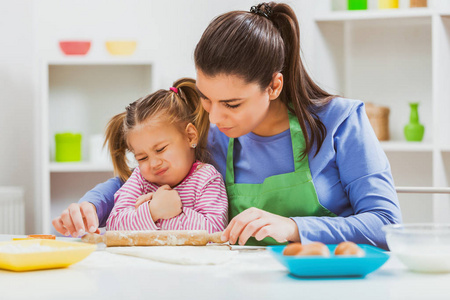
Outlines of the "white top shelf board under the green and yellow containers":
[{"label": "white top shelf board under the green and yellow containers", "polygon": [[[428,8],[393,9],[393,10],[361,10],[334,11],[316,15],[316,22],[341,22],[354,20],[384,20],[398,18],[427,18],[437,14]],[[442,14],[441,14],[442,15]]]}]

